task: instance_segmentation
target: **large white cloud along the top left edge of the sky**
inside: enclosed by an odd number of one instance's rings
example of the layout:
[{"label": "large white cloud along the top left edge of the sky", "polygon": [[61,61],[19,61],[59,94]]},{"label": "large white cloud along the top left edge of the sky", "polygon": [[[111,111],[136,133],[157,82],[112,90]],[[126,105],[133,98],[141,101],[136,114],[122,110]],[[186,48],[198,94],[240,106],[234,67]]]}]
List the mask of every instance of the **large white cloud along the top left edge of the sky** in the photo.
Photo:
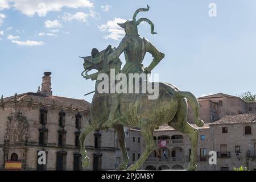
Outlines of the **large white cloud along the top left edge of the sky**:
[{"label": "large white cloud along the top left edge of the sky", "polygon": [[[3,2],[2,2],[3,1]],[[1,0],[0,8],[8,8],[10,5],[27,16],[46,16],[50,11],[61,11],[63,7],[77,9],[79,7],[93,7],[89,0]]]}]

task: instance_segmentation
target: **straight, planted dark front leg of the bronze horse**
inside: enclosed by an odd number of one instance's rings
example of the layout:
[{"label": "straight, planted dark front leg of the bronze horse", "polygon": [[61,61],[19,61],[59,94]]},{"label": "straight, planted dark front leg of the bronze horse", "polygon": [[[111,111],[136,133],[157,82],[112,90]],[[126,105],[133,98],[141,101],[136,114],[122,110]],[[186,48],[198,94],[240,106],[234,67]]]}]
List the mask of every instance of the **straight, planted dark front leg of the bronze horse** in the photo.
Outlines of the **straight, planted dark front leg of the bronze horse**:
[{"label": "straight, planted dark front leg of the bronze horse", "polygon": [[114,125],[113,128],[117,132],[119,147],[121,148],[121,151],[123,154],[123,163],[119,164],[117,169],[124,170],[127,168],[127,164],[129,162],[129,156],[127,154],[126,144],[125,144],[125,129],[123,129],[122,125]]}]

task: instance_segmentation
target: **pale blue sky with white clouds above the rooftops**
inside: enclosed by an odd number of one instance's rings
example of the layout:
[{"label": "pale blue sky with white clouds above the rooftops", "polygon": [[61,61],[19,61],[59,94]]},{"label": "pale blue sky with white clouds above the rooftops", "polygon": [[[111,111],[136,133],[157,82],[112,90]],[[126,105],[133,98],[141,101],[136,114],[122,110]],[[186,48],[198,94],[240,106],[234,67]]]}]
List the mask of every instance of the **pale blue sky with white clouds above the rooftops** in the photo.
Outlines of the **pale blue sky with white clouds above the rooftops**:
[{"label": "pale blue sky with white clouds above the rooftops", "polygon": [[[217,16],[208,15],[216,3]],[[123,31],[115,23],[140,13],[155,24],[139,34],[166,54],[152,73],[197,97],[208,93],[256,93],[256,1],[254,0],[0,0],[0,94],[36,92],[43,72],[52,72],[53,94],[83,98],[94,82],[81,77],[93,47],[117,47]],[[150,55],[144,65],[152,60]],[[122,56],[122,61],[125,60]]]}]

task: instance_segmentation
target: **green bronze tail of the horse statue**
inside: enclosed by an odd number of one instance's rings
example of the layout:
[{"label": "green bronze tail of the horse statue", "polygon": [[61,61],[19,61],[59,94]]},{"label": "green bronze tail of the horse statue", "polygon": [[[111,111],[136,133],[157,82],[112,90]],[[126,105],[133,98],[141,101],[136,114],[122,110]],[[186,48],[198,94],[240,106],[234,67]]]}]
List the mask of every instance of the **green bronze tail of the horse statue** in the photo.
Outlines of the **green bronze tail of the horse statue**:
[{"label": "green bronze tail of the horse statue", "polygon": [[197,101],[197,98],[191,92],[178,91],[176,93],[177,93],[177,96],[179,96],[179,97],[187,98],[188,104],[191,106],[191,108],[193,110],[193,119],[194,119],[196,125],[197,126],[204,126],[203,120],[201,120],[199,118],[200,104]]}]

